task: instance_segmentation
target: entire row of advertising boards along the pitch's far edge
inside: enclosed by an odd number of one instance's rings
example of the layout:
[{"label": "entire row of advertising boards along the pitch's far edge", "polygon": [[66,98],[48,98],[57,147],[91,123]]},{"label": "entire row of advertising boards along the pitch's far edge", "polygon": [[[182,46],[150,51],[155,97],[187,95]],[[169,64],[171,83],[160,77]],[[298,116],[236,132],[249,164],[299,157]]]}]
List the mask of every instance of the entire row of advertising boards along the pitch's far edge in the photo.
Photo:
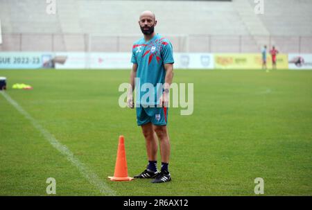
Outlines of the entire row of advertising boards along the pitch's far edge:
[{"label": "entire row of advertising boards along the pitch's far edge", "polygon": [[[262,69],[260,53],[174,53],[175,69]],[[130,69],[131,53],[0,53],[0,69]],[[277,55],[277,69],[312,69],[312,54]],[[267,67],[272,68],[270,55]]]}]

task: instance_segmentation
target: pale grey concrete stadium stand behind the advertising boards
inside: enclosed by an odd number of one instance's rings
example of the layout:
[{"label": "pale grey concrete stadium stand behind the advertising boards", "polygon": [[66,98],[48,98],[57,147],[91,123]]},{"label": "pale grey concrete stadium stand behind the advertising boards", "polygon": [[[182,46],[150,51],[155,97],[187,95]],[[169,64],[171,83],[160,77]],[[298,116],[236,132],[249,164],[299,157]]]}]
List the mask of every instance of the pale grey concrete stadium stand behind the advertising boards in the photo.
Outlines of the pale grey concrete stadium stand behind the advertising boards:
[{"label": "pale grey concrete stadium stand behind the advertising boards", "polygon": [[155,12],[157,33],[170,38],[175,51],[249,53],[263,44],[285,53],[312,51],[309,0],[265,1],[263,15],[254,15],[253,0],[62,0],[55,15],[46,6],[42,0],[1,0],[0,51],[128,51],[141,36],[143,10]]}]

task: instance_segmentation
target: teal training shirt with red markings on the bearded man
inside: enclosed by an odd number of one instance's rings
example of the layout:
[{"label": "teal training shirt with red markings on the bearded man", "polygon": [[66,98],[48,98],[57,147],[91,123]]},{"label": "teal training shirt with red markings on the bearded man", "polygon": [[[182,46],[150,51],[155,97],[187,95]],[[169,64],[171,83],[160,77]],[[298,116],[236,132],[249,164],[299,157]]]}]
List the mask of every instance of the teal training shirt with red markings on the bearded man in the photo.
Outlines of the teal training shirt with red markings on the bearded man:
[{"label": "teal training shirt with red markings on the bearded man", "polygon": [[159,34],[148,42],[143,37],[132,46],[131,62],[138,65],[135,81],[137,106],[158,105],[166,77],[164,64],[174,63],[171,42]]}]

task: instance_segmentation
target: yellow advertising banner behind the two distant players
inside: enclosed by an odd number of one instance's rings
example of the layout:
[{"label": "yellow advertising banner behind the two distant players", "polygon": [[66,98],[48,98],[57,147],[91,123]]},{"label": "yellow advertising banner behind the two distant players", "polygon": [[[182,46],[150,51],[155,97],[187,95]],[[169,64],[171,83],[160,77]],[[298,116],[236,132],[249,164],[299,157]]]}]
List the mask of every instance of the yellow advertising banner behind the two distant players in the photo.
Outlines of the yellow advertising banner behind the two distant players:
[{"label": "yellow advertising banner behind the two distant players", "polygon": [[[272,58],[267,56],[266,64],[272,69]],[[287,54],[277,55],[277,69],[288,69]],[[262,69],[260,53],[217,53],[214,54],[215,69]]]}]

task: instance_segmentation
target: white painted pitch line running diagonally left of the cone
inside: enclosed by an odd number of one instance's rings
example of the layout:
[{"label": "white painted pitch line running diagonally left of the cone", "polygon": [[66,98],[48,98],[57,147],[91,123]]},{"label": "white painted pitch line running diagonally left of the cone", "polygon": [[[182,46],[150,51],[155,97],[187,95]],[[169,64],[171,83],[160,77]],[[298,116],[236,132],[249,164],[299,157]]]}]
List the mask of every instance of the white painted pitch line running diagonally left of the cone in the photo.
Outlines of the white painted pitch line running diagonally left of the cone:
[{"label": "white painted pitch line running diagonally left of the cone", "polygon": [[44,136],[44,138],[51,143],[51,145],[57,149],[59,152],[62,153],[69,161],[71,161],[71,164],[76,166],[80,173],[94,186],[96,186],[97,189],[101,191],[103,195],[116,195],[116,193],[110,189],[105,182],[102,182],[102,180],[96,175],[92,170],[87,168],[85,164],[81,163],[75,156],[73,156],[73,152],[67,148],[67,146],[64,146],[62,143],[58,141],[58,139],[55,139],[53,137],[53,134],[51,134],[48,130],[44,129],[42,125],[40,125],[33,117],[28,114],[15,100],[13,100],[8,94],[6,94],[5,91],[0,91],[1,95],[8,100],[8,102],[13,105],[26,119],[31,121],[33,126],[37,128],[41,132],[41,134]]}]

